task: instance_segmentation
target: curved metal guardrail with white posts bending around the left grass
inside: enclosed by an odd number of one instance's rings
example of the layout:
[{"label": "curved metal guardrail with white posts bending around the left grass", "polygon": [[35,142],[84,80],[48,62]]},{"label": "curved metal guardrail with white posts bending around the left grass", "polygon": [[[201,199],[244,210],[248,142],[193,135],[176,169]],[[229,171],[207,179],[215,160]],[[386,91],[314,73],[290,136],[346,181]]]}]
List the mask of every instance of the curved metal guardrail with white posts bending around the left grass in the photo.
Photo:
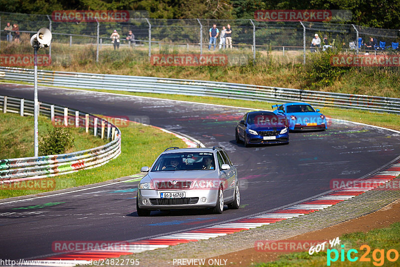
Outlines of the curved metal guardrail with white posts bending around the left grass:
[{"label": "curved metal guardrail with white posts bending around the left grass", "polygon": [[[103,136],[111,141],[98,147],[66,154],[0,159],[0,184],[94,168],[107,163],[120,154],[121,134],[115,125],[91,114],[81,113],[84,116],[79,116],[80,111],[78,110],[43,102],[39,104],[39,114],[49,116],[52,120],[54,116],[64,118],[65,121],[72,117],[75,120],[75,126],[87,125],[94,135]],[[1,112],[33,115],[33,101],[31,100],[0,95],[0,106]],[[103,121],[104,123],[102,123]]]}]

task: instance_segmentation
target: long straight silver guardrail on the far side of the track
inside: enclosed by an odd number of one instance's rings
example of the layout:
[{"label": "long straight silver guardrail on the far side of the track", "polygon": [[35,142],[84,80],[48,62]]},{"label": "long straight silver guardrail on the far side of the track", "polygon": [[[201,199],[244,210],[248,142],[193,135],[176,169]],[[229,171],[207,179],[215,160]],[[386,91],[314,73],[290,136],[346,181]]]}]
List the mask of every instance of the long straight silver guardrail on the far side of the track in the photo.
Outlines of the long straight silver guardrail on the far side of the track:
[{"label": "long straight silver guardrail on the far side of the track", "polygon": [[[33,69],[0,67],[0,79],[32,82]],[[38,83],[73,88],[214,96],[274,103],[304,101],[315,106],[400,113],[399,98],[217,81],[39,70]]]}]

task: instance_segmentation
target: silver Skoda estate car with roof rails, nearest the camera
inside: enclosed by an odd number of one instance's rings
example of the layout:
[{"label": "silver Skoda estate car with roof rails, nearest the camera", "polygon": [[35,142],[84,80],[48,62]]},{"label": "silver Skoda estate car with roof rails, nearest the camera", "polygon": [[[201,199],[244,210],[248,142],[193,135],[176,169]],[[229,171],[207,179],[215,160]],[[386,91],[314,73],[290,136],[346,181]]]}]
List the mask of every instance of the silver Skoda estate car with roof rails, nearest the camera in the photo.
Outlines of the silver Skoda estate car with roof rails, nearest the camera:
[{"label": "silver Skoda estate car with roof rails, nearest the camera", "polygon": [[213,208],[222,213],[239,208],[237,171],[220,146],[212,148],[169,147],[139,182],[136,209],[139,216],[151,210],[175,208]]}]

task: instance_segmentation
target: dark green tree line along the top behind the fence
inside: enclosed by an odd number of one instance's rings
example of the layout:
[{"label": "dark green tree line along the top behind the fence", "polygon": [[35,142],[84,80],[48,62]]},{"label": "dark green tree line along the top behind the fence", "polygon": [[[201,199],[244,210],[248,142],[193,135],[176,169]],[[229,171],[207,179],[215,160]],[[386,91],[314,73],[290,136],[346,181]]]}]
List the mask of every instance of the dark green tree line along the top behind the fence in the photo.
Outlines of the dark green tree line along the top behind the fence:
[{"label": "dark green tree line along the top behind the fence", "polygon": [[400,29],[400,0],[0,0],[2,11],[145,10],[149,18],[253,18],[259,9],[346,9],[361,26]]}]

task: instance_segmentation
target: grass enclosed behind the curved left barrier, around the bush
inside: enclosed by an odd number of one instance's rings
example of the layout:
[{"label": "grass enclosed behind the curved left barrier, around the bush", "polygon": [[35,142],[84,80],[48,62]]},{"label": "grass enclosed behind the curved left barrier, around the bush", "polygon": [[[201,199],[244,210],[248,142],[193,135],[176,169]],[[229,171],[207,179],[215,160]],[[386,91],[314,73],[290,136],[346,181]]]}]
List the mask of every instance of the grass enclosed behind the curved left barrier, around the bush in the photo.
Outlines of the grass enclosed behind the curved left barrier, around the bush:
[{"label": "grass enclosed behind the curved left barrier, around the bush", "polygon": [[[0,159],[33,156],[33,116],[0,113]],[[38,117],[38,139],[53,128],[51,120]],[[85,133],[82,128],[68,128],[74,145],[66,152],[80,151],[105,144],[107,141]]]}]

